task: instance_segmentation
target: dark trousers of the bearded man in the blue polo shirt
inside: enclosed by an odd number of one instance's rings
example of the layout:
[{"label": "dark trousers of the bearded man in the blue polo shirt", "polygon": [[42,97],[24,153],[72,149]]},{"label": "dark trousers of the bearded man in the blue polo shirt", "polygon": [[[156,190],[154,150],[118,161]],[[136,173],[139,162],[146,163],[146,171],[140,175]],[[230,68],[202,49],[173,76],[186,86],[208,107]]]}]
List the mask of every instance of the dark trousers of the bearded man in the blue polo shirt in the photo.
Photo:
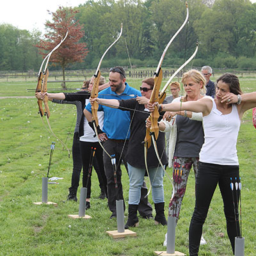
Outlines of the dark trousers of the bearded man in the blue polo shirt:
[{"label": "dark trousers of the bearded man in the blue polo shirt", "polygon": [[[124,145],[125,143],[125,145]],[[116,200],[124,200],[123,187],[122,187],[122,170],[121,163],[125,164],[127,170],[126,154],[128,148],[128,141],[124,140],[107,140],[104,142],[104,148],[110,156],[115,155],[116,158],[116,180],[118,189],[115,188],[114,171],[110,157],[103,152],[104,169],[108,182],[108,206],[109,210],[116,214]],[[119,162],[119,163],[118,163]],[[138,207],[138,211],[141,216],[147,216],[152,214],[152,206],[148,202],[148,198],[144,198],[147,195],[147,187],[145,182],[141,188],[141,200]],[[125,204],[124,204],[125,209]]]}]

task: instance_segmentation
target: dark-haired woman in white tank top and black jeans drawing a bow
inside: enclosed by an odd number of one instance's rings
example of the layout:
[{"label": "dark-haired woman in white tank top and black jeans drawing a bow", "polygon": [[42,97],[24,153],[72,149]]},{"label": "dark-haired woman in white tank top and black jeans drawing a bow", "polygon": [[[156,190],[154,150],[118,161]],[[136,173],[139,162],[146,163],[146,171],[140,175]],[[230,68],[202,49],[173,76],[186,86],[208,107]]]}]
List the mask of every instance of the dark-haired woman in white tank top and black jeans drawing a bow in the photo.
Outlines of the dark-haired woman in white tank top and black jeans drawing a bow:
[{"label": "dark-haired woman in white tank top and black jeans drawing a bow", "polygon": [[[152,111],[154,105],[149,104]],[[193,111],[203,113],[205,142],[200,151],[200,164],[196,176],[196,204],[189,227],[189,255],[198,255],[202,227],[216,186],[220,187],[224,202],[227,233],[234,253],[235,237],[240,235],[237,204],[230,179],[239,180],[236,142],[243,113],[256,107],[256,92],[242,94],[239,79],[224,74],[217,80],[216,98],[204,97],[196,101],[158,105],[161,111]],[[236,193],[235,193],[236,194]]]}]

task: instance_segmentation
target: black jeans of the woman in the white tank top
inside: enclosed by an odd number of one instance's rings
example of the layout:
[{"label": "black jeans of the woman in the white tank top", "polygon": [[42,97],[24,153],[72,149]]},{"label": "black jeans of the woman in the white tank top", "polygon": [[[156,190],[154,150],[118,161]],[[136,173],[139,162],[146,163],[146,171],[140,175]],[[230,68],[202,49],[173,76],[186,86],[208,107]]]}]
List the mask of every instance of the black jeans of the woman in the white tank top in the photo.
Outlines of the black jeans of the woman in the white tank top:
[{"label": "black jeans of the woman in the white tank top", "polygon": [[236,189],[234,189],[234,193],[232,193],[230,188],[230,178],[232,178],[233,182],[235,178],[237,178],[237,182],[239,182],[239,166],[199,162],[198,174],[196,175],[196,203],[189,226],[190,256],[198,255],[202,227],[217,184],[221,191],[225,218],[227,221],[228,237],[234,253],[235,237],[240,234],[237,211],[237,202],[239,202],[240,191],[238,189],[236,193]]}]

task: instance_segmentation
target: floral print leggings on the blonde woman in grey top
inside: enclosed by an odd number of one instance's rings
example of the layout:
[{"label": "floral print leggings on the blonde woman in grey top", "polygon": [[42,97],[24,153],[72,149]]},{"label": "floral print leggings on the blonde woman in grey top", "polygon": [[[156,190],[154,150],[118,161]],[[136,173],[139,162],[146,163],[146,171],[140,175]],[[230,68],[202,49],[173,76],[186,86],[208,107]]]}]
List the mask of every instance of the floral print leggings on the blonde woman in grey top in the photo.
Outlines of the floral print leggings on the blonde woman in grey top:
[{"label": "floral print leggings on the blonde woman in grey top", "polygon": [[179,220],[181,203],[185,195],[189,172],[193,164],[196,177],[198,163],[198,157],[173,157],[172,167],[175,193],[173,198],[170,199],[168,216],[176,217],[176,223]]}]

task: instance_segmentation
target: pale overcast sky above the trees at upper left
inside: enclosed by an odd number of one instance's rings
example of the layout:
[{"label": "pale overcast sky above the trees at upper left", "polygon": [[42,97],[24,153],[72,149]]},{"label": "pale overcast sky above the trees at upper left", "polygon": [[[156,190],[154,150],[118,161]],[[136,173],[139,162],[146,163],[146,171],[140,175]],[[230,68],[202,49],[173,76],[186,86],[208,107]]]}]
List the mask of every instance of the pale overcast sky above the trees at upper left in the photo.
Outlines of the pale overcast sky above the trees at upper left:
[{"label": "pale overcast sky above the trees at upper left", "polygon": [[[0,24],[8,23],[19,29],[39,29],[44,32],[46,20],[51,20],[47,12],[55,12],[59,6],[79,6],[86,0],[4,0],[0,8]],[[255,3],[256,0],[251,0]]]}]

